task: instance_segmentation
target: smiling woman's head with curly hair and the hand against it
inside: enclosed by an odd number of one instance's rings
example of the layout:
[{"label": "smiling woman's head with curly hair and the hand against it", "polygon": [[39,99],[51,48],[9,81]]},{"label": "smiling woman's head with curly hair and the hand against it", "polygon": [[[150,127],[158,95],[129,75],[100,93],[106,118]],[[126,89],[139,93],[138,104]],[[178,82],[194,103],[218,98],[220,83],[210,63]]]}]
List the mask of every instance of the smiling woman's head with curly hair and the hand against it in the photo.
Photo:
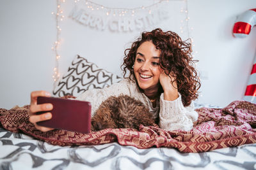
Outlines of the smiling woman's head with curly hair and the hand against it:
[{"label": "smiling woman's head with curly hair and the hand against it", "polygon": [[[190,43],[182,41],[175,32],[155,29],[143,32],[141,38],[125,50],[123,70],[125,74],[130,73],[130,80],[136,78],[141,92],[149,98],[164,92],[165,100],[174,101],[179,92],[182,104],[189,106],[198,97],[197,90],[200,88],[200,80],[193,67],[195,62],[191,57]],[[143,89],[144,86],[140,85],[143,84],[141,82],[145,84],[146,80],[152,80],[147,81],[147,85],[155,80],[158,91],[152,94],[148,93],[148,89]]]}]

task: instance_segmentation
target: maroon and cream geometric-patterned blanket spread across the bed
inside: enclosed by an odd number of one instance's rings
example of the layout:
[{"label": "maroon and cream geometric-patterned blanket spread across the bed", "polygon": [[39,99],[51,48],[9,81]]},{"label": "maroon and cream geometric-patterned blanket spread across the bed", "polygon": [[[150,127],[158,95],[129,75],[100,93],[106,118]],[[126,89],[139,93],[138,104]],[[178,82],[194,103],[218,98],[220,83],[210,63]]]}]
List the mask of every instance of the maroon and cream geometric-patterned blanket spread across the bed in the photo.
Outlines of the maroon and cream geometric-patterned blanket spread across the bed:
[{"label": "maroon and cream geometric-patterned blanket spread across the bed", "polygon": [[28,120],[29,106],[0,109],[4,129],[22,132],[52,145],[99,145],[118,142],[137,148],[169,147],[180,152],[207,152],[218,148],[256,143],[256,104],[234,101],[222,109],[199,108],[191,131],[164,131],[140,125],[135,129],[104,129],[82,134],[63,130],[41,132]]}]

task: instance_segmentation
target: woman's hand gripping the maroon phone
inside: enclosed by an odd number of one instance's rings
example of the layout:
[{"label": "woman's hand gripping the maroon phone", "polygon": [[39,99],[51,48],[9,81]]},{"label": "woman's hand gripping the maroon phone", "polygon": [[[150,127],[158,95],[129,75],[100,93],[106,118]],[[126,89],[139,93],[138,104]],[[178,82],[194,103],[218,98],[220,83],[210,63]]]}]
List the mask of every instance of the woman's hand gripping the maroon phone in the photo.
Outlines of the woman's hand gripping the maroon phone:
[{"label": "woman's hand gripping the maroon phone", "polygon": [[37,104],[37,97],[39,96],[45,96],[45,97],[51,97],[51,94],[49,92],[45,91],[35,91],[31,92],[31,103],[30,103],[30,110],[29,110],[29,122],[33,123],[36,127],[36,129],[47,132],[53,130],[49,127],[42,127],[40,125],[37,125],[36,122],[40,122],[43,120],[49,120],[52,118],[52,114],[50,112],[46,112],[42,115],[36,115],[36,112],[38,111],[51,111],[53,106],[51,103],[45,103],[45,104]]}]

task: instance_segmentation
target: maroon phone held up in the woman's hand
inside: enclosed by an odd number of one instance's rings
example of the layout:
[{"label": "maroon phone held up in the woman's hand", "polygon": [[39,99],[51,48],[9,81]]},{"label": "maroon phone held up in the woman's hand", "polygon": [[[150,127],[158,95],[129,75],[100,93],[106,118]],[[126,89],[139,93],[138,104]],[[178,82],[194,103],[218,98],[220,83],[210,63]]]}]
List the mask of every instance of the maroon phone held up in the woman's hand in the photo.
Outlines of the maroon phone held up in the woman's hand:
[{"label": "maroon phone held up in the woman's hand", "polygon": [[87,101],[61,99],[57,97],[37,97],[37,104],[51,103],[52,113],[50,120],[37,122],[40,126],[63,129],[67,131],[88,133],[91,129],[91,104]]}]

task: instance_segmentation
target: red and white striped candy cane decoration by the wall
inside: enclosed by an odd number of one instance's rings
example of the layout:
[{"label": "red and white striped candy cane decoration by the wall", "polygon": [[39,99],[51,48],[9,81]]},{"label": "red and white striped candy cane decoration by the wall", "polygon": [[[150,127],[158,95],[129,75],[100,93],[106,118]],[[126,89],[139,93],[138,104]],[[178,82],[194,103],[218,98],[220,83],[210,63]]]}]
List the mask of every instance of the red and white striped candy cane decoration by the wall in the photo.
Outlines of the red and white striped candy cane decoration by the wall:
[{"label": "red and white striped candy cane decoration by the wall", "polygon": [[[244,38],[248,34],[252,27],[256,25],[256,8],[245,11],[238,18],[233,27],[233,34],[236,38]],[[251,103],[256,103],[256,56],[253,62],[252,71],[247,83],[247,87],[244,93],[244,100]]]}]

